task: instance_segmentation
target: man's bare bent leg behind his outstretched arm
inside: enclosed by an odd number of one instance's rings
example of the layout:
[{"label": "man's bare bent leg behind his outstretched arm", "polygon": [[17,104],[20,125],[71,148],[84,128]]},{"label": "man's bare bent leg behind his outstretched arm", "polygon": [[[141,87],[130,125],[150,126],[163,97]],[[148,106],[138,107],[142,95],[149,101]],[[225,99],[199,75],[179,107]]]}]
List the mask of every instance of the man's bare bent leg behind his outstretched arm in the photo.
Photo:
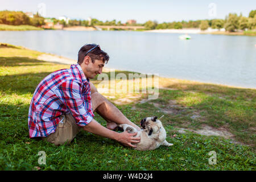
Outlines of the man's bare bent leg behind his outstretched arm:
[{"label": "man's bare bent leg behind his outstretched arm", "polygon": [[107,122],[107,128],[110,130],[115,129],[117,125],[128,124],[134,126],[137,130],[141,130],[137,125],[131,122],[129,119],[121,113],[117,107],[115,107],[111,102],[109,102],[104,96],[97,92],[96,87],[91,83],[91,96],[92,96],[92,106],[93,111],[95,110],[101,115]]}]

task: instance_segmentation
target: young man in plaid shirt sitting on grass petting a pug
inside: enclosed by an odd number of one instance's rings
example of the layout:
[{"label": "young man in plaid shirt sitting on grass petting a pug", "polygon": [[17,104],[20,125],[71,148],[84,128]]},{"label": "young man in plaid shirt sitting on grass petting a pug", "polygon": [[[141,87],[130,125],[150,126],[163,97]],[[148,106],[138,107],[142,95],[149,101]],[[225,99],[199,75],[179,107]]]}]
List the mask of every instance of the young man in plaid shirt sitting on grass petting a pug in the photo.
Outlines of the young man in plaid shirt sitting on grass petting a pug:
[{"label": "young man in plaid shirt sitting on grass petting a pug", "polygon": [[[61,145],[71,142],[82,129],[135,147],[132,143],[139,143],[141,139],[134,137],[137,133],[117,133],[112,130],[123,123],[137,129],[139,127],[89,82],[89,78],[102,73],[108,60],[108,53],[102,51],[100,46],[85,44],[80,48],[77,64],[72,64],[70,69],[55,71],[40,82],[28,111],[30,138],[42,137]],[[93,119],[94,111],[106,120],[106,127]]]}]

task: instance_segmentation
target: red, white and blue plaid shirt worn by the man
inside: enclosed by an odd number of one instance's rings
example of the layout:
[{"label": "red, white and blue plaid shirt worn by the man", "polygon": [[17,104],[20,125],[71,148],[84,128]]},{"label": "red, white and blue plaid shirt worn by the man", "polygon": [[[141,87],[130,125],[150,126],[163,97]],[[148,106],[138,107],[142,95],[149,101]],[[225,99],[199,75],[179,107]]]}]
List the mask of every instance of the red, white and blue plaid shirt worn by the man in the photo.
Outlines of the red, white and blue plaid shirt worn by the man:
[{"label": "red, white and blue plaid shirt worn by the man", "polygon": [[94,117],[90,83],[79,64],[45,77],[36,87],[28,111],[30,138],[54,133],[60,115],[71,113],[77,125],[85,126]]}]

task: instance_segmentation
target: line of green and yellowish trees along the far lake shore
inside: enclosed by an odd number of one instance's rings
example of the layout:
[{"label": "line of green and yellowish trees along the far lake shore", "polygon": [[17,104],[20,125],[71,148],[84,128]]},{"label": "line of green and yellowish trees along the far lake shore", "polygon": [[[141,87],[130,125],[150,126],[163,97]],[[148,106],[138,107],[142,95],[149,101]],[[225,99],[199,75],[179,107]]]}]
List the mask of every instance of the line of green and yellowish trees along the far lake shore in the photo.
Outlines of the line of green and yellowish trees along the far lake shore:
[{"label": "line of green and yellowish trees along the far lake shore", "polygon": [[[121,26],[127,25],[122,24],[121,21],[117,20],[106,20],[102,22],[101,20],[93,18],[89,24],[88,20],[69,20],[67,24],[64,20],[58,20],[56,18],[51,18],[53,23],[63,24],[64,27],[69,26],[96,26],[96,25],[106,25],[106,26]],[[22,11],[0,11],[0,24],[10,24],[10,25],[20,25],[28,24],[32,26],[42,26],[44,24],[44,18],[39,14],[34,15],[34,18],[28,17]],[[189,20],[181,22],[164,22],[158,23],[156,21],[148,20],[146,23],[136,23],[131,24],[133,26],[144,26],[146,30],[153,29],[181,29],[181,28],[201,28],[201,30],[207,30],[208,27],[211,28],[225,28],[226,31],[237,31],[237,30],[255,30],[256,28],[256,10],[251,10],[248,17],[238,16],[237,14],[230,13],[225,19],[212,19],[212,20]]]}]

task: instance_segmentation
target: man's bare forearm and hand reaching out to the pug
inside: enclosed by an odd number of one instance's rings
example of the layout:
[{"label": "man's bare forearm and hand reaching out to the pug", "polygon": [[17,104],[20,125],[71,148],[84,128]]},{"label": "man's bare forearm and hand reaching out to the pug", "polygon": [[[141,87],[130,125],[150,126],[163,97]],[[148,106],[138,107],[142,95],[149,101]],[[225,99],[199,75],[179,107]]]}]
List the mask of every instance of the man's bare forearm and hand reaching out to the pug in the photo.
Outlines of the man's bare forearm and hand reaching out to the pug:
[{"label": "man's bare forearm and hand reaching out to the pug", "polygon": [[139,143],[141,141],[140,137],[134,137],[135,135],[137,135],[137,133],[130,134],[127,133],[127,131],[123,133],[117,133],[102,126],[95,119],[92,119],[92,121],[88,123],[88,125],[82,127],[82,129],[90,133],[100,135],[101,137],[117,140],[118,142],[124,144],[125,146],[136,147],[131,143]]}]

